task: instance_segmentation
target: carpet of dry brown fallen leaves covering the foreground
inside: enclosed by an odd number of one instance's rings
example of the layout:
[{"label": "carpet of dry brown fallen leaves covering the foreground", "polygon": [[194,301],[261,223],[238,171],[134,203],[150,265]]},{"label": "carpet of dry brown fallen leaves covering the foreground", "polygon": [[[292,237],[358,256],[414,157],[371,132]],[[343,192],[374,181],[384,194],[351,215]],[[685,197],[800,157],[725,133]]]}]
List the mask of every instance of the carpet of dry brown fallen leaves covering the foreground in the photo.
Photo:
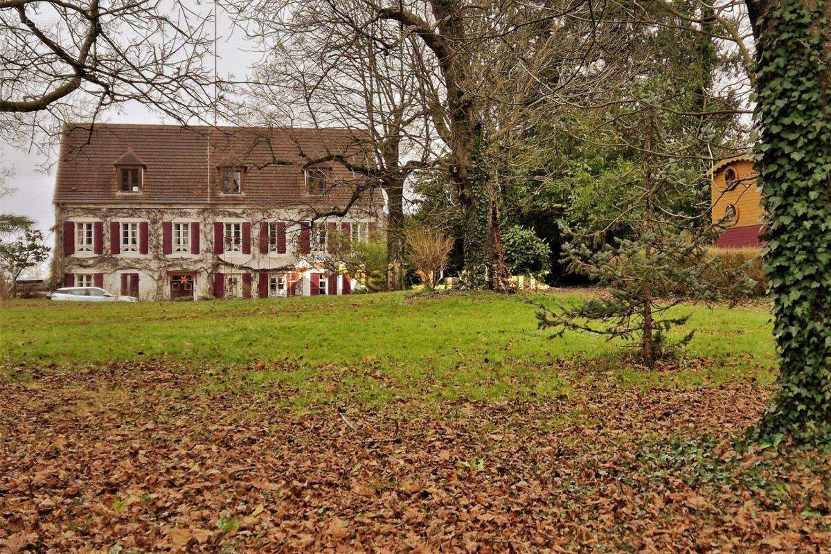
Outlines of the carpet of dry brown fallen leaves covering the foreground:
[{"label": "carpet of dry brown fallen leaves covering the foreground", "polygon": [[[197,385],[160,365],[5,385],[0,549],[829,552],[827,459],[788,475],[806,506],[639,457],[668,437],[739,433],[768,394],[747,383],[585,385],[582,400],[442,404],[440,418],[412,405],[297,416],[268,387]],[[718,452],[740,468],[765,459],[726,440]]]}]

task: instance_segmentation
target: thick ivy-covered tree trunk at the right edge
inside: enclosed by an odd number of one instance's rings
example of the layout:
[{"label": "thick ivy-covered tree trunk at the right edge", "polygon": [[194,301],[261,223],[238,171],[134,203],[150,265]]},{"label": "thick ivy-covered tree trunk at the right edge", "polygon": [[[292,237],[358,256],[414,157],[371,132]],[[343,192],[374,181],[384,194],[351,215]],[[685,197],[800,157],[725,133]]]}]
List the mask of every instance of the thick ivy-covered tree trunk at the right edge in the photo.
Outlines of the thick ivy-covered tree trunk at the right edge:
[{"label": "thick ivy-covered tree trunk at the right edge", "polygon": [[747,0],[779,391],[763,435],[831,437],[831,0]]}]

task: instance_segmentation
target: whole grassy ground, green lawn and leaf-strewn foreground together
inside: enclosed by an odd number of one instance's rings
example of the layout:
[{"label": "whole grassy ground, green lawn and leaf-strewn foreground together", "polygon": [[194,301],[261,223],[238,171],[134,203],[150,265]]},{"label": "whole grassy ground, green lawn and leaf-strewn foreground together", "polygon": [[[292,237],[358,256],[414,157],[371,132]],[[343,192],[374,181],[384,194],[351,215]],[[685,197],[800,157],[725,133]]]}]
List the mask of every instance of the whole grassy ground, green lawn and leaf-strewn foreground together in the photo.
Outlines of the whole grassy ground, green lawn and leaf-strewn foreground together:
[{"label": "whole grassy ground, green lawn and leaf-strewn foreground together", "polygon": [[829,552],[767,307],[647,371],[537,296],[0,305],[0,551]]}]

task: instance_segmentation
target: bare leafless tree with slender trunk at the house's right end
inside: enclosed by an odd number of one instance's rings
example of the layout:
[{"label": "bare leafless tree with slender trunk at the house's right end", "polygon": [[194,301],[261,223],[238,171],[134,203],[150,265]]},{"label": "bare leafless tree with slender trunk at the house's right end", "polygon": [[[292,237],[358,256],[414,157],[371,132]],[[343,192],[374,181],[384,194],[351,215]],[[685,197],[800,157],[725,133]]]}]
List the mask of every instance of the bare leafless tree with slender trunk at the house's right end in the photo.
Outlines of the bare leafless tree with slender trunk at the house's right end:
[{"label": "bare leafless tree with slender trunk at the house's right end", "polygon": [[[416,169],[435,165],[442,153],[434,148],[443,145],[431,128],[425,81],[410,69],[423,46],[413,38],[396,42],[399,31],[379,22],[371,22],[366,33],[356,32],[356,22],[371,16],[355,0],[298,3],[290,17],[280,17],[274,5],[246,12],[248,35],[267,57],[246,87],[244,115],[258,124],[291,120],[351,131],[366,156],[360,163],[353,160],[350,169],[361,175],[364,188],[386,194],[386,280],[396,289],[403,286],[405,183]],[[376,39],[396,46],[381,51]],[[353,201],[363,192],[356,190]]]}]

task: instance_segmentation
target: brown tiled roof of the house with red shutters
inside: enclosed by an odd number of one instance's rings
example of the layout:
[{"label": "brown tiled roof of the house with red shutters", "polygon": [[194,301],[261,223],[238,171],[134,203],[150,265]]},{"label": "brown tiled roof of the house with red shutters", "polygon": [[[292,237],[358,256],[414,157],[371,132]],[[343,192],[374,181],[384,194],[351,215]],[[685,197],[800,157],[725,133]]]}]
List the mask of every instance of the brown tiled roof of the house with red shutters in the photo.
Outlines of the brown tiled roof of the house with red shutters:
[{"label": "brown tiled roof of the house with red shutters", "polygon": [[[326,198],[312,197],[301,165],[328,154],[360,163],[363,151],[361,135],[343,129],[96,124],[91,130],[89,124],[67,124],[54,201],[342,206],[358,183],[356,175],[333,164],[342,182]],[[125,159],[145,165],[141,194],[118,192],[116,165]],[[247,168],[242,195],[221,194],[218,168],[226,163]]]}]

